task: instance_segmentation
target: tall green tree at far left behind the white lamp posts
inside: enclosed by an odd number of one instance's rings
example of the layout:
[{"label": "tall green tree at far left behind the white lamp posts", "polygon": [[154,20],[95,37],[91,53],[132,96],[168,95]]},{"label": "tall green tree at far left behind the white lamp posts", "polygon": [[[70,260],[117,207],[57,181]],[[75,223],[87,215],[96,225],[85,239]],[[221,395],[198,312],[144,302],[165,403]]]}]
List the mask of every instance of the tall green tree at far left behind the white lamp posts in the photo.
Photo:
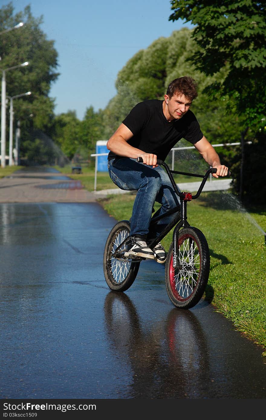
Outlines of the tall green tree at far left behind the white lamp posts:
[{"label": "tall green tree at far left behind the white lamp posts", "polygon": [[[18,22],[25,23],[20,29],[1,35],[0,68],[5,69],[29,61],[29,66],[6,72],[7,95],[20,95],[31,91],[32,95],[14,101],[15,121],[21,121],[22,138],[31,137],[31,131],[48,131],[53,121],[54,99],[50,98],[51,84],[58,78],[58,53],[54,41],[47,40],[40,29],[42,16],[34,18],[30,6],[14,14],[12,3],[0,8],[0,30],[12,28]],[[31,115],[31,116],[30,116]],[[8,127],[8,124],[7,124]],[[26,144],[21,144],[26,153]]]}]

